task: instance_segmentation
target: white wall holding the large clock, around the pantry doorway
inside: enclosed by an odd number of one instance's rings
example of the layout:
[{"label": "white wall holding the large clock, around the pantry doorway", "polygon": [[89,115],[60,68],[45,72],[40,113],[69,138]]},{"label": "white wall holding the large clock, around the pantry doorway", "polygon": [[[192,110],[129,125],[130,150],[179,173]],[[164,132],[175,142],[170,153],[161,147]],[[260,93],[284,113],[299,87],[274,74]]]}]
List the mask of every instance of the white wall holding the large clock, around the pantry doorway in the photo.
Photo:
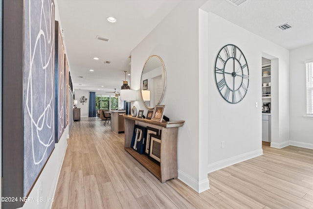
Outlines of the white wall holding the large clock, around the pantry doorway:
[{"label": "white wall holding the large clock, around the pantry doorway", "polygon": [[[208,2],[209,3],[209,2]],[[201,136],[207,136],[207,172],[247,160],[262,154],[262,52],[277,57],[279,69],[277,82],[277,105],[279,113],[276,114],[277,133],[272,141],[281,144],[289,140],[289,51],[275,45],[241,27],[222,19],[208,10],[207,52],[200,54],[203,62],[208,62],[208,68],[201,68],[200,73],[207,74],[207,82],[200,89],[208,89],[208,99],[204,106],[208,109],[207,118],[203,118],[207,129],[202,130]],[[207,9],[209,8],[209,9]],[[219,94],[214,78],[214,63],[219,50],[227,44],[238,46],[246,56],[249,66],[249,89],[245,98],[237,104],[229,104]],[[208,59],[205,60],[205,57]],[[203,64],[205,66],[205,64]],[[208,72],[206,72],[209,70]],[[272,78],[275,80],[275,77]],[[287,100],[287,101],[286,101]],[[258,103],[258,108],[255,107]],[[202,111],[201,111],[202,112]],[[221,148],[224,141],[225,148]]]}]

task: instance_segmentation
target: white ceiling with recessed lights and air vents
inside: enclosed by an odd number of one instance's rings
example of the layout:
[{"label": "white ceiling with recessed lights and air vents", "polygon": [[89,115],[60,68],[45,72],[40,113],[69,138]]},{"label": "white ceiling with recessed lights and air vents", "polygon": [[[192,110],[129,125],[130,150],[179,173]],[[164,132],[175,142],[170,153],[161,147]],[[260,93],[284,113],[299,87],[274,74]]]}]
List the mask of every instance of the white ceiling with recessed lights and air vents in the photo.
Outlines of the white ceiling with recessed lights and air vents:
[{"label": "white ceiling with recessed lights and air vents", "polygon": [[[74,89],[119,91],[124,70],[130,72],[131,50],[180,1],[57,0]],[[313,0],[246,0],[239,6],[228,0],[208,0],[201,9],[287,49],[313,44]],[[109,16],[117,22],[107,22]],[[292,28],[276,28],[284,23]],[[109,41],[96,40],[97,35]],[[130,77],[126,80],[130,82]]]}]

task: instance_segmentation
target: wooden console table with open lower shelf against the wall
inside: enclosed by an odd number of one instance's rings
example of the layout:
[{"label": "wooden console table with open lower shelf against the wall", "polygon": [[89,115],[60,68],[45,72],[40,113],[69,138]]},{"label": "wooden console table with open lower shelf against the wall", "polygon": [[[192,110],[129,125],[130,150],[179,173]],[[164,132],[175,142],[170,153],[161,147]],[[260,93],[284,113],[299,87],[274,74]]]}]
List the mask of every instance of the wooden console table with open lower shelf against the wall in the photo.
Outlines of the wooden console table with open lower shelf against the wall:
[{"label": "wooden console table with open lower shelf against the wall", "polygon": [[[177,179],[177,134],[178,128],[183,126],[185,121],[156,122],[133,116],[124,115],[123,117],[125,118],[125,150],[140,164],[147,168],[153,175],[155,175],[161,183],[164,183],[169,179]],[[160,165],[154,163],[145,154],[140,155],[133,148],[131,148],[134,125],[136,121],[146,123],[148,126],[149,124],[159,126],[162,130]]]}]

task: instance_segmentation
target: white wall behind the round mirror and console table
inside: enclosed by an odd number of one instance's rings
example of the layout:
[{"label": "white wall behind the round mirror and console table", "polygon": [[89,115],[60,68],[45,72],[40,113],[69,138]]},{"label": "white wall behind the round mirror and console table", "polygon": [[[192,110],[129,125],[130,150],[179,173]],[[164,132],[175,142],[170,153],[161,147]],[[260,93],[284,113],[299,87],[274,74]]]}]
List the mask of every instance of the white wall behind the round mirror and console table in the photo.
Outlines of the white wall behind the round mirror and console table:
[{"label": "white wall behind the round mirror and console table", "polygon": [[[165,64],[167,86],[164,115],[185,120],[178,135],[179,179],[197,191],[208,188],[207,174],[199,173],[199,7],[205,0],[182,1],[132,51],[132,86],[140,89],[141,71],[150,55]],[[138,110],[142,101],[132,102]]]}]

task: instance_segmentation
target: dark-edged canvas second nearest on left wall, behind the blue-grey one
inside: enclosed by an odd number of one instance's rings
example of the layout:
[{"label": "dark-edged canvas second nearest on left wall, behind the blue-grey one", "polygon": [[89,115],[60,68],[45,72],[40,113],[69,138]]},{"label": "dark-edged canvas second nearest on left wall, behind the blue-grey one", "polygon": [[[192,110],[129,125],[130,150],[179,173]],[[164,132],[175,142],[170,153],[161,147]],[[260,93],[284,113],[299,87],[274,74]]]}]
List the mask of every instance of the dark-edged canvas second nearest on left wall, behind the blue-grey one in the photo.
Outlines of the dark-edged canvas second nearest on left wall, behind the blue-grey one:
[{"label": "dark-edged canvas second nearest on left wall, behind the blue-grey one", "polygon": [[55,142],[61,138],[65,127],[65,53],[62,32],[55,21]]}]

